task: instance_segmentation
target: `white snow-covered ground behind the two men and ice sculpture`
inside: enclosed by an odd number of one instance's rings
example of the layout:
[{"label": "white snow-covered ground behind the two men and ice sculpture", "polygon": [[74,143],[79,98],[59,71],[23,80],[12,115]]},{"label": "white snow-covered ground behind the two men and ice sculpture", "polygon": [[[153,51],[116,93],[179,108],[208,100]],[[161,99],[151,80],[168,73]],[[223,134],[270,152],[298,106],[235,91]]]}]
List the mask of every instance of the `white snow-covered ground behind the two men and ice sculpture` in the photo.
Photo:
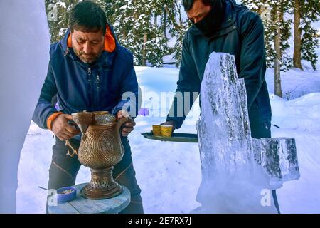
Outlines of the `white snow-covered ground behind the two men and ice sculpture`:
[{"label": "white snow-covered ground behind the two men and ice sculpture", "polygon": [[[174,92],[178,79],[176,68],[136,67],[144,96],[144,108],[151,116],[136,118],[137,126],[129,135],[137,180],[142,188],[146,213],[188,213],[200,206],[196,194],[201,182],[201,165],[196,143],[159,142],[143,138],[152,124],[164,122],[171,99],[160,99],[160,92]],[[273,71],[267,71],[267,83],[273,91]],[[320,72],[290,70],[283,76],[284,94],[294,92],[293,100],[270,93],[272,103],[272,137],[294,137],[297,142],[301,177],[284,183],[278,190],[283,213],[320,212]],[[299,95],[303,95],[299,97]],[[161,108],[156,107],[156,98]],[[299,97],[299,98],[297,98]],[[293,97],[292,97],[293,98]],[[164,103],[166,101],[166,103]],[[164,107],[162,107],[164,106]],[[162,113],[163,115],[157,115]],[[196,133],[198,100],[183,128],[178,132]],[[152,116],[153,115],[153,116]],[[46,205],[48,168],[54,144],[53,133],[31,123],[21,152],[18,170],[17,212],[43,213]],[[82,167],[77,183],[88,182],[90,172]]]}]

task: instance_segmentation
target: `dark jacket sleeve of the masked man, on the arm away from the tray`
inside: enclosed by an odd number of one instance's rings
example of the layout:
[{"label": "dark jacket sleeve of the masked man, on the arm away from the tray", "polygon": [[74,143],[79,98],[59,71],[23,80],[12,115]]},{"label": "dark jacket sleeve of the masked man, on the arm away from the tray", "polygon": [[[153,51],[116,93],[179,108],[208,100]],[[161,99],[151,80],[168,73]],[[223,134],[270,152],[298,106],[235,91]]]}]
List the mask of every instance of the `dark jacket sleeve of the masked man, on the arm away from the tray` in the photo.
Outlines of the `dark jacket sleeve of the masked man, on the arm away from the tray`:
[{"label": "dark jacket sleeve of the masked man, on the arm away from the tray", "polygon": [[245,78],[247,104],[250,109],[265,80],[264,28],[260,16],[251,11],[247,11],[241,21],[242,46],[239,78]]}]

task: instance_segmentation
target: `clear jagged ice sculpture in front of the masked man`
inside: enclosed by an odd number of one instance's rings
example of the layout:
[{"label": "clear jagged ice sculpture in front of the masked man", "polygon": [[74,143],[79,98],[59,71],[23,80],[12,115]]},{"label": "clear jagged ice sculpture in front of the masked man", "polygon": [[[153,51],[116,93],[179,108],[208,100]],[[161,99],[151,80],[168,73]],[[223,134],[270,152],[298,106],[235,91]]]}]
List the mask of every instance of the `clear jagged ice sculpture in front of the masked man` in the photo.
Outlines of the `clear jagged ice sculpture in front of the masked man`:
[{"label": "clear jagged ice sculpture in front of the masked man", "polygon": [[[245,82],[238,79],[234,56],[211,53],[201,83],[201,106],[198,212],[277,213],[272,199],[262,202],[263,192],[281,186],[284,179],[299,178],[294,139],[251,138]],[[289,162],[288,154],[293,155]]]}]

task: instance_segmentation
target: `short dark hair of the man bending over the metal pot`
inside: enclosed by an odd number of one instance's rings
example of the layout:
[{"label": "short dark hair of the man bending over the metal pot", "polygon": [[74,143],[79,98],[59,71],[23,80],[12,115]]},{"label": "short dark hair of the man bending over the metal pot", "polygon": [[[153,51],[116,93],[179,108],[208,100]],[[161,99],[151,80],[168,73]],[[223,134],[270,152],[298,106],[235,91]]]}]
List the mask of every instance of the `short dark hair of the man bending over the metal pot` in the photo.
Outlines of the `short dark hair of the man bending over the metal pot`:
[{"label": "short dark hair of the man bending over the metal pot", "polygon": [[80,1],[73,6],[69,16],[69,28],[82,32],[102,31],[105,36],[107,18],[101,7],[93,1]]}]

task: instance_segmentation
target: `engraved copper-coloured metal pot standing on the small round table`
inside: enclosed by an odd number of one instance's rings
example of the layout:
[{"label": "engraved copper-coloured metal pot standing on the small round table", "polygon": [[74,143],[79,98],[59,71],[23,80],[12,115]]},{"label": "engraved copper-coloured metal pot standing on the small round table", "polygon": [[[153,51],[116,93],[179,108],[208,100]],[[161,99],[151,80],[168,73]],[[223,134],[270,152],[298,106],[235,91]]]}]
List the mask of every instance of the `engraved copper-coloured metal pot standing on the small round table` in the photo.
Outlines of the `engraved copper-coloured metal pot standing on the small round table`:
[{"label": "engraved copper-coloured metal pot standing on the small round table", "polygon": [[82,132],[78,159],[90,167],[91,181],[80,194],[87,199],[107,199],[122,192],[112,177],[113,166],[122,160],[124,147],[120,138],[122,125],[132,118],[117,120],[108,112],[73,113],[73,121]]}]

